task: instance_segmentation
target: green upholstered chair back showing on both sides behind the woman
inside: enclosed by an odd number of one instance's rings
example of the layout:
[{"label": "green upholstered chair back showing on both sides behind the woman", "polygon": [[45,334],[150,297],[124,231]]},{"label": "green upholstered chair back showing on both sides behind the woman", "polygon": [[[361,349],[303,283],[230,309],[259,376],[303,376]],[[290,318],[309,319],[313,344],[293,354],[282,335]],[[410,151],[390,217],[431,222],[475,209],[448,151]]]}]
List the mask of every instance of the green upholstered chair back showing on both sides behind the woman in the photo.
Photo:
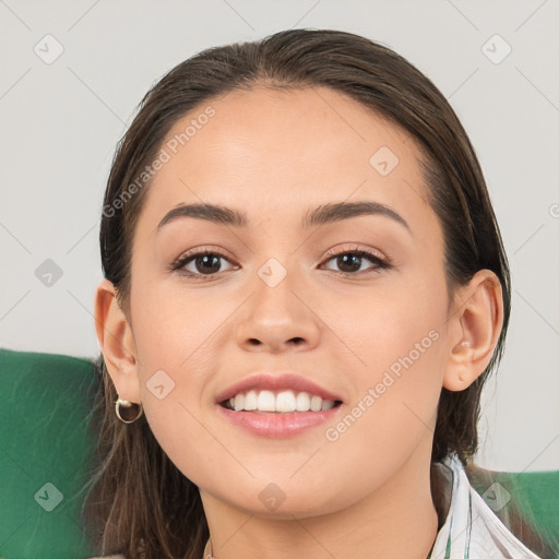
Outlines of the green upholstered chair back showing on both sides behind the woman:
[{"label": "green upholstered chair back showing on both sides behind the woman", "polygon": [[[84,559],[84,485],[95,467],[92,361],[0,349],[0,558]],[[471,478],[481,495],[499,481],[551,542],[559,540],[559,472],[490,473]]]}]

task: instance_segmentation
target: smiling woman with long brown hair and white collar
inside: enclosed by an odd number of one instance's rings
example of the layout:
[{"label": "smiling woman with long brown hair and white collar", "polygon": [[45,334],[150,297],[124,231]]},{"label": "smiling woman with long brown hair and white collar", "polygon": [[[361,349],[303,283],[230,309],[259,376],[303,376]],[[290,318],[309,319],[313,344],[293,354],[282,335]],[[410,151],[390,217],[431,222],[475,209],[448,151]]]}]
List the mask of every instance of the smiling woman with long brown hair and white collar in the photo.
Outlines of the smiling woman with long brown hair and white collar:
[{"label": "smiling woman with long brown hair and white collar", "polygon": [[405,59],[295,29],[180,63],[118,147],[100,247],[104,552],[546,549],[468,483],[509,270],[468,138]]}]

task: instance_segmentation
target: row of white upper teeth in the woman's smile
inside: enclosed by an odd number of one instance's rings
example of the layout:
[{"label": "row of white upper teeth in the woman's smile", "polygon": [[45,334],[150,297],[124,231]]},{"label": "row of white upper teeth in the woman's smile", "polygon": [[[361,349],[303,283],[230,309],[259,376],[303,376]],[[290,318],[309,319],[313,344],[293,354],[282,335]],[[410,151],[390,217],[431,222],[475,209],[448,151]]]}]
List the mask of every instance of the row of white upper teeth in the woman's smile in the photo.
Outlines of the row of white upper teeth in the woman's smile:
[{"label": "row of white upper teeth in the woman's smile", "polygon": [[274,394],[270,390],[257,392],[251,390],[246,394],[237,394],[229,399],[229,406],[236,412],[321,412],[334,407],[332,400],[322,400],[320,396],[286,390]]}]

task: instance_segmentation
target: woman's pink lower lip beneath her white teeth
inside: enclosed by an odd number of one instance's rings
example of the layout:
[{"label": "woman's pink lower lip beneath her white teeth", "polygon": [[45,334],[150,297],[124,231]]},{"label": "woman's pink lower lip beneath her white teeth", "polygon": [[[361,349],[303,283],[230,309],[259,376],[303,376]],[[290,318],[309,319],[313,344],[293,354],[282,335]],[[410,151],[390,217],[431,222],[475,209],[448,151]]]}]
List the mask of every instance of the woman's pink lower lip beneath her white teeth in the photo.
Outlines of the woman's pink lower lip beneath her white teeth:
[{"label": "woman's pink lower lip beneath her white teeth", "polygon": [[233,425],[253,435],[271,438],[294,437],[320,427],[337,414],[342,406],[337,405],[323,412],[234,412],[217,404],[218,413]]}]

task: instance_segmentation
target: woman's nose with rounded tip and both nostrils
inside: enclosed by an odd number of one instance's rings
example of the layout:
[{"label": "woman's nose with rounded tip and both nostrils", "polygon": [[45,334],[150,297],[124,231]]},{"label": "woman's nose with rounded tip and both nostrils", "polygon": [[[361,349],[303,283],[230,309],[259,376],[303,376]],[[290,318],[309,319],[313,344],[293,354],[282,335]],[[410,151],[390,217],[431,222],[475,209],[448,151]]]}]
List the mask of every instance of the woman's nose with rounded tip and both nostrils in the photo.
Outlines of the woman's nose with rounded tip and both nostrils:
[{"label": "woman's nose with rounded tip and both nostrils", "polygon": [[239,309],[235,323],[237,344],[249,352],[304,352],[314,348],[321,335],[321,321],[312,300],[301,289],[294,290],[292,275],[274,287],[260,277],[253,293]]}]

